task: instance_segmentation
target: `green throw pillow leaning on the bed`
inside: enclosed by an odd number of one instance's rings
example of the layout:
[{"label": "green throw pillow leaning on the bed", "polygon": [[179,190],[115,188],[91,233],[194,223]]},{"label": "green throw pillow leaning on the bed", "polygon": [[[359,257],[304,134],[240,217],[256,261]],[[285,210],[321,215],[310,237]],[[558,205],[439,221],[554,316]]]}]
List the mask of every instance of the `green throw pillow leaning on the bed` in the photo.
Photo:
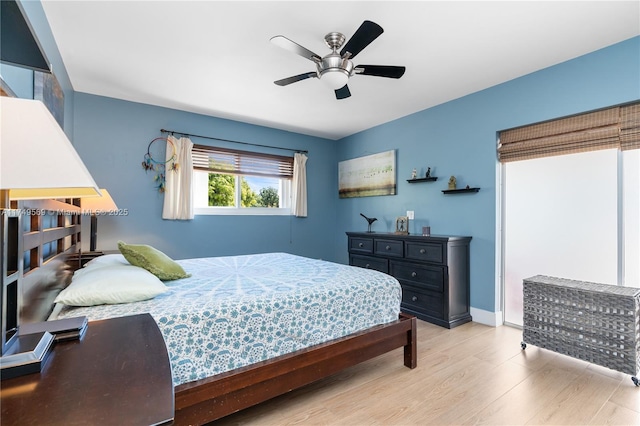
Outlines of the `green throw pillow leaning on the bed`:
[{"label": "green throw pillow leaning on the bed", "polygon": [[191,276],[169,256],[151,246],[118,241],[118,249],[130,264],[146,269],[163,281]]}]

